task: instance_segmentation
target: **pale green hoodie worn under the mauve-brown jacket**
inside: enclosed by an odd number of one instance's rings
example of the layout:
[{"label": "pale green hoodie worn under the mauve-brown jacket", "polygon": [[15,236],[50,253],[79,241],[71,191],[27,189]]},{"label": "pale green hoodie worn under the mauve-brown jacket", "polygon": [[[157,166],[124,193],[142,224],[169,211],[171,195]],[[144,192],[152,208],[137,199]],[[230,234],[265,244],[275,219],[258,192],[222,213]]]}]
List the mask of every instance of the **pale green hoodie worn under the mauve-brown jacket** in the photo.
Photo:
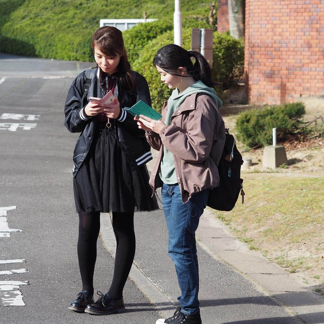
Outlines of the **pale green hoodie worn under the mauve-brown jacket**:
[{"label": "pale green hoodie worn under the mauve-brown jacket", "polygon": [[[165,118],[165,124],[170,125],[171,117],[175,110],[182,104],[182,102],[194,93],[206,93],[212,97],[217,105],[217,108],[221,108],[223,103],[221,99],[217,97],[217,94],[213,88],[207,87],[202,81],[197,81],[181,94],[179,94],[179,88],[172,91],[172,94],[168,100],[168,111]],[[165,146],[163,147],[163,158],[161,160],[159,175],[161,180],[167,184],[178,183],[177,176],[174,168],[173,154],[168,151]]]}]

